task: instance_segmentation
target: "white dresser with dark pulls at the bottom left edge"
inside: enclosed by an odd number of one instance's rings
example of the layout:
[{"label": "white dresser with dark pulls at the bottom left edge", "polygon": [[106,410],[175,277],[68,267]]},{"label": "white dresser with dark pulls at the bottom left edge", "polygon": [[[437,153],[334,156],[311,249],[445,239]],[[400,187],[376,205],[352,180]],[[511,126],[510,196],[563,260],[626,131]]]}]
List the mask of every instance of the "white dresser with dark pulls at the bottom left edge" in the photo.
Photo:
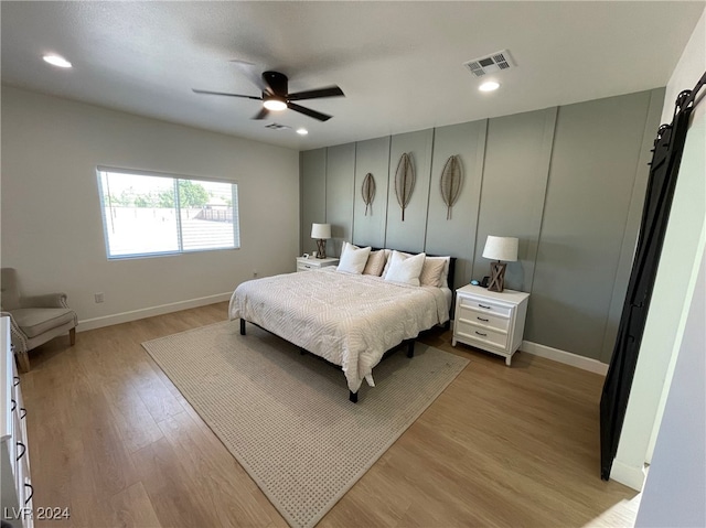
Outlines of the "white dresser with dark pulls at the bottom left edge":
[{"label": "white dresser with dark pulls at the bottom left edge", "polygon": [[26,439],[26,409],[10,342],[10,321],[0,317],[0,507],[2,520],[13,527],[32,527],[32,484]]}]

